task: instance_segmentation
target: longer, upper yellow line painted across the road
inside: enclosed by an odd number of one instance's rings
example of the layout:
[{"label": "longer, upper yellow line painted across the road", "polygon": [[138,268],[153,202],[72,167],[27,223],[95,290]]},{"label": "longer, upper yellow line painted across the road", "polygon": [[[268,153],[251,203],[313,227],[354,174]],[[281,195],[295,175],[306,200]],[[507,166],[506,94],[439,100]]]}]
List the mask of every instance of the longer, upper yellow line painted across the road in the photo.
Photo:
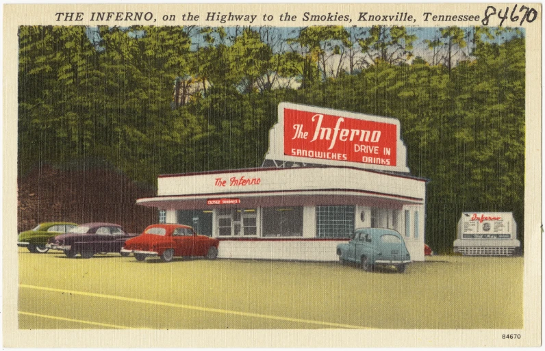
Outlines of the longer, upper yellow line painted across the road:
[{"label": "longer, upper yellow line painted across the road", "polygon": [[348,329],[368,329],[368,328],[365,328],[363,326],[353,326],[351,324],[331,323],[331,322],[323,322],[323,321],[317,321],[317,320],[303,320],[301,318],[281,317],[279,315],[264,315],[264,314],[260,314],[260,313],[249,313],[249,312],[240,312],[240,311],[230,311],[230,310],[227,310],[227,309],[212,309],[212,308],[209,308],[209,307],[190,306],[188,304],[174,304],[174,303],[170,303],[170,302],[143,300],[143,299],[140,299],[140,298],[127,298],[125,296],[96,294],[96,293],[91,293],[91,292],[86,292],[86,291],[56,289],[56,288],[53,288],[53,287],[38,287],[36,285],[26,285],[26,284],[19,284],[19,287],[24,287],[24,288],[27,288],[27,289],[55,291],[55,292],[61,292],[61,293],[64,293],[64,294],[92,296],[92,297],[95,297],[95,298],[110,298],[112,300],[138,302],[138,303],[142,303],[142,304],[155,304],[157,306],[176,307],[178,309],[191,309],[191,310],[194,310],[194,311],[223,313],[223,314],[229,314],[229,315],[242,315],[244,317],[257,317],[257,318],[264,318],[264,319],[268,319],[268,320],[282,320],[282,321],[287,321],[287,322],[318,324],[318,325],[321,325],[321,326],[330,326],[330,327],[348,328]]}]

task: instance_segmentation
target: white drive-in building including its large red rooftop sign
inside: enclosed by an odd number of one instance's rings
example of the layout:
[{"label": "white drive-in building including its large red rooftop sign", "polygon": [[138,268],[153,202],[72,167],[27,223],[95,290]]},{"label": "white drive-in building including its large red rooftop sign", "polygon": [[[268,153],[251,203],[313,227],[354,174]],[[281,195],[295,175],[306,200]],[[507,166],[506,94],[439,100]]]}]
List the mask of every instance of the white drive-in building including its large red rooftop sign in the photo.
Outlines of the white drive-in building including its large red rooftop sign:
[{"label": "white drive-in building including its large red rooftop sign", "polygon": [[220,258],[336,261],[354,229],[381,227],[424,260],[427,180],[398,120],[281,103],[269,141],[262,168],[160,175],[137,203],[220,239]]}]

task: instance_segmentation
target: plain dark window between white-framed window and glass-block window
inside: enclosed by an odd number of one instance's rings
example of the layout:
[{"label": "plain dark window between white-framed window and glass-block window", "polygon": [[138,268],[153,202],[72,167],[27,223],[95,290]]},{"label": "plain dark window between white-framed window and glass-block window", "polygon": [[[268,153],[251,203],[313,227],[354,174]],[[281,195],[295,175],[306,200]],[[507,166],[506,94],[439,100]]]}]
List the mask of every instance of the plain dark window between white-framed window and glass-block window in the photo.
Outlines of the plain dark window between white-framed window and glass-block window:
[{"label": "plain dark window between white-framed window and glass-block window", "polygon": [[302,237],[303,207],[266,207],[263,209],[264,237]]}]

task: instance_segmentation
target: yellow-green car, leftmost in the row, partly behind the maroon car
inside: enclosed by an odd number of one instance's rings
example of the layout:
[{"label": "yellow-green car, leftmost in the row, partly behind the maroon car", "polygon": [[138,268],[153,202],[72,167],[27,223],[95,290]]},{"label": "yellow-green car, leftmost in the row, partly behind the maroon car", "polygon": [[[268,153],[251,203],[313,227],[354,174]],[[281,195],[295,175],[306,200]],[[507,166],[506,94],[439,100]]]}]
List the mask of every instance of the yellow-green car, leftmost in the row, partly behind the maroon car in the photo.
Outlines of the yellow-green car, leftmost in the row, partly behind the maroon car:
[{"label": "yellow-green car, leftmost in the row, partly behind the maroon car", "polygon": [[45,253],[49,248],[45,244],[50,237],[64,234],[71,231],[77,224],[72,222],[46,222],[40,223],[36,228],[19,233],[17,237],[17,246],[25,247],[34,253]]}]

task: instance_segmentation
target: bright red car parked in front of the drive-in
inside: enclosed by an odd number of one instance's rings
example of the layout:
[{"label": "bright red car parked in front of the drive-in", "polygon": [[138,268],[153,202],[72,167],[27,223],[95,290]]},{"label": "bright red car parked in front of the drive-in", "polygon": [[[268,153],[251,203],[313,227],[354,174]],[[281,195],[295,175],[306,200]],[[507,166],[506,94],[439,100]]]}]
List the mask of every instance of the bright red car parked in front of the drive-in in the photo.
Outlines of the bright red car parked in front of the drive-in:
[{"label": "bright red car parked in front of the drive-in", "polygon": [[215,259],[218,256],[218,239],[198,235],[183,224],[152,224],[142,235],[125,242],[122,253],[133,254],[138,261],[158,256],[164,262],[173,257],[203,256]]}]

